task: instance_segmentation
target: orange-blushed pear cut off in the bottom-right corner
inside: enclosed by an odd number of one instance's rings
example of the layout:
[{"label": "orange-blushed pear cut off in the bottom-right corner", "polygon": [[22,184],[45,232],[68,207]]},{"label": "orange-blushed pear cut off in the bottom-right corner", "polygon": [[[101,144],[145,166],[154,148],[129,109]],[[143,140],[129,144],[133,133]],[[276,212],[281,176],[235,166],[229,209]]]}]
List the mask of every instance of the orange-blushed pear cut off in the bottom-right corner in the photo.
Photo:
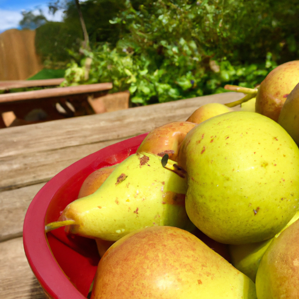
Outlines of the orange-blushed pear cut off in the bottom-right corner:
[{"label": "orange-blushed pear cut off in the bottom-right corner", "polygon": [[299,298],[299,220],[274,237],[256,276],[258,299]]}]

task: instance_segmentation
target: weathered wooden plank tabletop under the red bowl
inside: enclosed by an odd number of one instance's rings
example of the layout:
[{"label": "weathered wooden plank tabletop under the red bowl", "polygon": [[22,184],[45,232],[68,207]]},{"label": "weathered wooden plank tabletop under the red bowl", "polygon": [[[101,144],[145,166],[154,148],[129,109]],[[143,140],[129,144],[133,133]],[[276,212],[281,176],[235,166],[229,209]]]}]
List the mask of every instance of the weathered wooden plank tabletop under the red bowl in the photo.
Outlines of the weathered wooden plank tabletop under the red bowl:
[{"label": "weathered wooden plank tabletop under the red bowl", "polygon": [[205,103],[228,103],[241,97],[227,92],[0,129],[1,299],[46,298],[25,257],[22,226],[31,200],[47,181],[103,147],[186,120]]}]

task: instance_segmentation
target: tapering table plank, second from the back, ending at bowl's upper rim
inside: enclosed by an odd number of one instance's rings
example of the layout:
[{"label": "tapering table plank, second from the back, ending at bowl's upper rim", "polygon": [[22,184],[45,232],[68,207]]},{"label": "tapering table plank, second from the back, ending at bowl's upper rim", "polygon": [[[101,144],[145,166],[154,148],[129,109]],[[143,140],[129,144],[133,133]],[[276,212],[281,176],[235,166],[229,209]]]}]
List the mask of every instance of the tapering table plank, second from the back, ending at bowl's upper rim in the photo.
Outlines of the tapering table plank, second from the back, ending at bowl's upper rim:
[{"label": "tapering table plank, second from the back, ending at bowl's upper rim", "polygon": [[0,191],[47,182],[79,159],[124,139],[0,158]]}]

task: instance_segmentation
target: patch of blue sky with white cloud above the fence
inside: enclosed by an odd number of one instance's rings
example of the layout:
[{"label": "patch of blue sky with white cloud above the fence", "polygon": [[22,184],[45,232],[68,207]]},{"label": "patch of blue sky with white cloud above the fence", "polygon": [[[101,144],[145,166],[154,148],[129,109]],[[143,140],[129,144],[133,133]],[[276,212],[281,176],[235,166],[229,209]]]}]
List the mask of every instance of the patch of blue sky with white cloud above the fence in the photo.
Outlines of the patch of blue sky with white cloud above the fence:
[{"label": "patch of blue sky with white cloud above the fence", "polygon": [[50,0],[0,0],[0,33],[10,29],[18,28],[22,20],[22,10],[35,10],[39,14],[41,9],[48,20],[61,21],[63,13],[58,11],[53,16],[48,11]]}]

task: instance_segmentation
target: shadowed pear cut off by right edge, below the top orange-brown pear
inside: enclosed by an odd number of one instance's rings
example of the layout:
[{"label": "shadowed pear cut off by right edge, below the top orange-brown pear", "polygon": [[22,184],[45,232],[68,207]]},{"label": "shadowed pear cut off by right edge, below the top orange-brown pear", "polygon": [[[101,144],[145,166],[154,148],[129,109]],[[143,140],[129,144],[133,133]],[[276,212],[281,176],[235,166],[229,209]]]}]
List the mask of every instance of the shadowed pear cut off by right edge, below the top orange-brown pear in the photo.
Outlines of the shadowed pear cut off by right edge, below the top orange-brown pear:
[{"label": "shadowed pear cut off by right edge, below the top orange-brown pear", "polygon": [[299,83],[291,91],[283,104],[278,123],[299,144]]}]

